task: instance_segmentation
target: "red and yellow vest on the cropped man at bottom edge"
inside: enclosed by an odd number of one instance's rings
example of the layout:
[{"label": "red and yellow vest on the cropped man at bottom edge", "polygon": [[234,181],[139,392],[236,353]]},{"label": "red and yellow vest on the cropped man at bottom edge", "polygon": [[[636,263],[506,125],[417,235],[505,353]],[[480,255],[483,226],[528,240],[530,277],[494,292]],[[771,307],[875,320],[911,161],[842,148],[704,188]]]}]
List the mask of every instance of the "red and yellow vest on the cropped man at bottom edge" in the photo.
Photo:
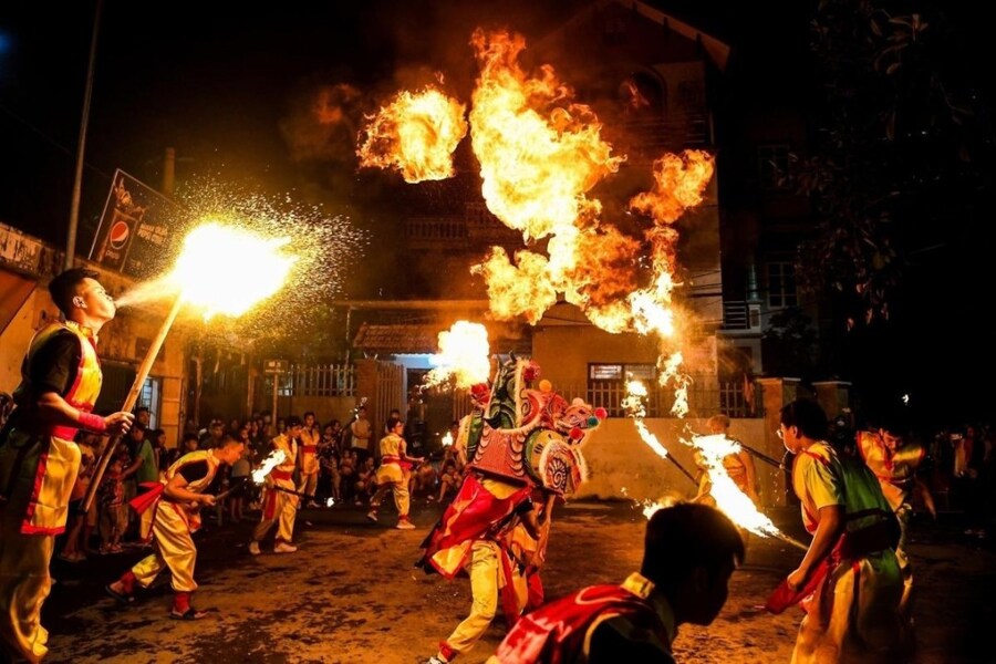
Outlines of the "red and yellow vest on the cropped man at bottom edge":
[{"label": "red and yellow vest on the cropped man at bottom edge", "polygon": [[[595,630],[612,630],[616,643],[652,651],[654,662],[673,662],[676,625],[671,604],[639,573],[621,585],[592,585],[526,614],[487,664],[569,664],[592,660]],[[611,661],[634,662],[623,652]]]}]

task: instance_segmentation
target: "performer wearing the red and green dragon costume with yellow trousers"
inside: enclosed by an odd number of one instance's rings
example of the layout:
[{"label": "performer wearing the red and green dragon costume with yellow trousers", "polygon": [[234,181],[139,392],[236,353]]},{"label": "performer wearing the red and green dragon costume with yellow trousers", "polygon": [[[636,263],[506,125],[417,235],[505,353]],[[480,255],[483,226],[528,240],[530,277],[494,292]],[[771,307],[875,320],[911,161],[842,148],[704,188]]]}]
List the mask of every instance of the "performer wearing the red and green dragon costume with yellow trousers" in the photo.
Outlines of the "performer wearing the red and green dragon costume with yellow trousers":
[{"label": "performer wearing the red and green dragon costume with yellow trousers", "polygon": [[549,381],[540,382],[540,390],[528,388],[538,374],[535,362],[512,356],[499,366],[490,392],[485,385],[470,391],[474,411],[455,444],[466,450],[469,470],[416,564],[447,579],[469,577],[473,603],[429,664],[469,651],[499,605],[513,625],[523,611],[542,603],[539,570],[553,502],[582,481],[577,447],[583,429],[599,418],[581,400],[568,404]]}]

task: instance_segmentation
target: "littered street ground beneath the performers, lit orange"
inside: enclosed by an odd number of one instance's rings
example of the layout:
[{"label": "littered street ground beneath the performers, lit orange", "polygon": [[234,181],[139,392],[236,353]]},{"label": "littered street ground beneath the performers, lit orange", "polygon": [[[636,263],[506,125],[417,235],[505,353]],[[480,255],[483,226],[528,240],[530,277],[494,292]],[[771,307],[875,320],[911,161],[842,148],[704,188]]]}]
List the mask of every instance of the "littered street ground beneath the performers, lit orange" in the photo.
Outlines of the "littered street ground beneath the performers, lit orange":
[{"label": "littered street ground beneath the performers, lit orange", "polygon": [[[300,550],[274,554],[270,544],[257,558],[246,548],[255,520],[209,523],[197,536],[201,588],[195,603],[211,615],[197,622],[168,618],[168,577],[133,606],[105,598],[103,584],[141,557],[138,551],[73,566],[56,561],[58,583],[44,606],[52,649],[46,662],[423,662],[466,615],[468,582],[447,582],[412,567],[438,507],[419,504],[413,531],[391,528],[394,515],[387,509],[380,525],[369,523],[364,513],[353,506],[304,510],[295,538]],[[795,510],[778,510],[772,518],[788,535],[805,539]],[[641,510],[627,502],[560,508],[543,572],[548,596],[621,580],[636,569],[644,523]],[[996,554],[990,540],[965,535],[966,527],[954,512],[936,525],[914,525],[917,662],[923,664],[992,661],[969,653],[996,624],[989,601]],[[780,541],[751,538],[747,564],[734,574],[719,619],[708,627],[682,627],[678,661],[788,662],[799,612],[772,616],[757,605],[800,559],[801,551]],[[459,662],[483,662],[504,631],[496,619]]]}]

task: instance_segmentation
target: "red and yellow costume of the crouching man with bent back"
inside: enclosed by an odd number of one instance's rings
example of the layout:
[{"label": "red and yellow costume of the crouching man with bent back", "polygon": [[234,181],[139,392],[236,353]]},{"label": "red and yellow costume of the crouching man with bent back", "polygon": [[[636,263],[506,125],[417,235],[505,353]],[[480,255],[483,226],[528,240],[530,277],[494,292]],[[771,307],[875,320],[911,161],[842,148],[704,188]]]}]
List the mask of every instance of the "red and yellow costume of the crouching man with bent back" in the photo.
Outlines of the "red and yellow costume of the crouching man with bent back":
[{"label": "red and yellow costume of the crouching man with bent back", "polygon": [[155,553],[139,560],[133,568],[135,582],[148,588],[163,568],[169,568],[172,585],[176,592],[197,590],[194,564],[197,547],[191,535],[200,529],[200,510],[184,501],[174,500],[164,488],[177,474],[187,479],[184,488],[193,494],[204,494],[215,479],[219,460],[210,449],[185,454],[174,463],[160,483],[143,485],[151,489],[132,500],[131,505],[142,518],[142,537],[156,544]]}]

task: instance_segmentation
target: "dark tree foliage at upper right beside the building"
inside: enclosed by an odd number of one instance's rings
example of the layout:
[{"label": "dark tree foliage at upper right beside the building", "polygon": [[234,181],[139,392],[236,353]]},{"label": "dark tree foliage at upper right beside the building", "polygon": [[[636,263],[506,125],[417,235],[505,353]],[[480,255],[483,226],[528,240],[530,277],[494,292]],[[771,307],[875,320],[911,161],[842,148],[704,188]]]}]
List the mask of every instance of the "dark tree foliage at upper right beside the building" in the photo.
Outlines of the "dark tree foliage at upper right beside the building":
[{"label": "dark tree foliage at upper right beside the building", "polygon": [[982,181],[959,37],[940,11],[892,7],[820,2],[811,48],[827,103],[811,152],[793,163],[818,215],[801,286],[855,302],[855,320],[888,318],[910,258],[943,243]]}]

